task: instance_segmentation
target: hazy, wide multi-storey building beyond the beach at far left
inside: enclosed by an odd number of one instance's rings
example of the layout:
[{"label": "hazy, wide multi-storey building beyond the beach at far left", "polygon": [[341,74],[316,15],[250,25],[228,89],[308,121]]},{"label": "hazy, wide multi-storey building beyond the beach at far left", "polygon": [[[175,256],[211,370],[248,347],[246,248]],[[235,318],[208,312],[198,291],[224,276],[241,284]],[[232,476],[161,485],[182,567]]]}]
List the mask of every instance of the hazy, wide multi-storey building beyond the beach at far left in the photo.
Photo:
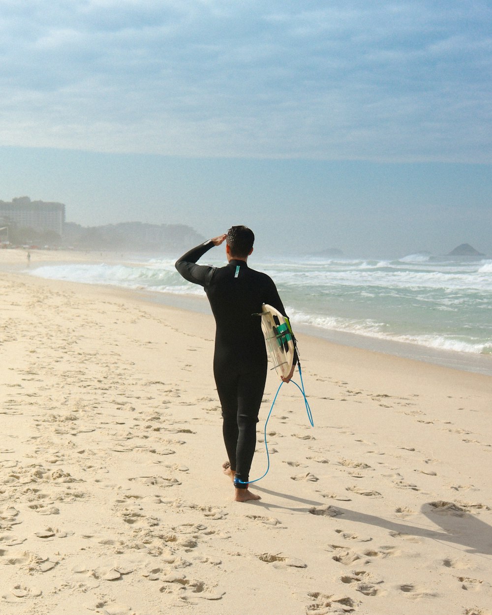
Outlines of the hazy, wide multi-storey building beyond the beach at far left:
[{"label": "hazy, wide multi-storey building beyond the beach at far left", "polygon": [[18,228],[31,228],[37,232],[54,231],[63,235],[65,223],[65,205],[62,203],[45,203],[28,196],[12,199],[12,202],[0,200],[0,226],[15,224]]}]

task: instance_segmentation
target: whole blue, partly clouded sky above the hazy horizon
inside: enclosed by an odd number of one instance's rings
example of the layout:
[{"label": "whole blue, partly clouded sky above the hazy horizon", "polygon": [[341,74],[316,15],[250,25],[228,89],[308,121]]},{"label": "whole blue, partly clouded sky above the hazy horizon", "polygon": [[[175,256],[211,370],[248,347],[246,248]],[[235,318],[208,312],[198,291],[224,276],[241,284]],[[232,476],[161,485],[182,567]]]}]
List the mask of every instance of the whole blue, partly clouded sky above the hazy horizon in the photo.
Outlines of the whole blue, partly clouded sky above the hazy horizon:
[{"label": "whole blue, partly clouded sky above the hazy horizon", "polygon": [[0,199],[492,256],[492,1],[0,0]]}]

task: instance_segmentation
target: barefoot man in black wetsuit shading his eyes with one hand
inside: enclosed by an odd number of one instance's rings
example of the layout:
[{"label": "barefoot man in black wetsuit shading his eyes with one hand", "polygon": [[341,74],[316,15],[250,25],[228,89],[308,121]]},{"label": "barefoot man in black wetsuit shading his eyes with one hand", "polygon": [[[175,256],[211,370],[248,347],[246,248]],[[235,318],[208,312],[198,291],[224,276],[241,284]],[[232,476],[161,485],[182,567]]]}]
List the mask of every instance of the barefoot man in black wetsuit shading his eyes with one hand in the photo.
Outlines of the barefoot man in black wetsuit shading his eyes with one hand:
[{"label": "barefoot man in black wetsuit shading his eyes with one hand", "polygon": [[[216,268],[198,265],[210,248],[226,241],[228,264]],[[255,236],[246,226],[232,226],[227,234],[209,239],[181,256],[176,268],[189,282],[205,288],[216,323],[213,375],[219,395],[223,435],[229,456],[228,474],[234,481],[235,499],[260,499],[248,489],[255,453],[256,423],[266,381],[266,348],[261,331],[263,303],[285,315],[272,279],[248,268]],[[290,381],[290,374],[283,378]]]}]

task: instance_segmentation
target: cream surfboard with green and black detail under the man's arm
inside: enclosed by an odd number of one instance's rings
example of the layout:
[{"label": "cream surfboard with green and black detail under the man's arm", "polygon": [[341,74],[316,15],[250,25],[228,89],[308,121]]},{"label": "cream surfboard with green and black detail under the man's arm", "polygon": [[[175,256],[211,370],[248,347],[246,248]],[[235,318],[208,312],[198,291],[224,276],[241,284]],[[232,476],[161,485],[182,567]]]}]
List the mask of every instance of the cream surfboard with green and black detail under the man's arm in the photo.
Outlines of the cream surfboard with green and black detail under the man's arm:
[{"label": "cream surfboard with green and black detail under the man's arm", "polygon": [[294,360],[294,336],[290,323],[284,315],[264,303],[261,306],[261,330],[265,344],[270,354],[273,367],[277,374],[288,376]]}]

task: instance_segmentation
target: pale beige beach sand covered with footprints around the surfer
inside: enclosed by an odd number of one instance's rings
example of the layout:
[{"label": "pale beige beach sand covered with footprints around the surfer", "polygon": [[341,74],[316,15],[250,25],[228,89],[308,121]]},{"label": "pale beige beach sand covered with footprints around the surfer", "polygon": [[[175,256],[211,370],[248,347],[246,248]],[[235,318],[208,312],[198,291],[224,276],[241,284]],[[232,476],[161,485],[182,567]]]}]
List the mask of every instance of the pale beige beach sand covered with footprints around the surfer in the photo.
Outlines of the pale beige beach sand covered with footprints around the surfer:
[{"label": "pale beige beach sand covered with footprints around the surfer", "polygon": [[5,272],[0,303],[2,615],[492,614],[490,376],[300,336],[314,427],[282,386],[242,504],[212,317]]}]

